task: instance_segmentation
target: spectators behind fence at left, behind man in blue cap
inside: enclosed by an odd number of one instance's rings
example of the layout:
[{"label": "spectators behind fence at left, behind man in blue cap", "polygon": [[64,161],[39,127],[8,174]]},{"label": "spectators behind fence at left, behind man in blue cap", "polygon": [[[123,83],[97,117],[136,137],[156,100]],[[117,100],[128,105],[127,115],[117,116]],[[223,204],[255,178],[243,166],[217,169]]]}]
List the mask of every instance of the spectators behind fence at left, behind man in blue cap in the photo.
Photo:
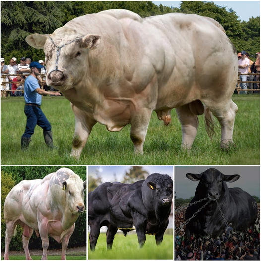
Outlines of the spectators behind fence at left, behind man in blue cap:
[{"label": "spectators behind fence at left, behind man in blue cap", "polygon": [[[10,92],[11,96],[22,96],[23,92],[18,90],[23,90],[23,84],[25,78],[31,73],[31,69],[29,67],[31,63],[31,58],[27,57],[21,57],[20,63],[17,64],[16,57],[13,57],[9,61],[9,65],[5,64],[4,58],[1,57],[1,82],[15,82],[15,83],[7,83],[7,84],[1,84],[1,90],[13,90]],[[41,78],[39,76],[38,80],[40,82],[45,81],[45,75],[46,75],[46,67],[45,62],[43,60],[39,60],[39,63],[43,65],[44,67],[41,70],[41,74],[44,74],[44,77]],[[3,75],[6,75],[6,77],[3,77]],[[13,75],[13,74],[22,74],[22,75]],[[10,76],[9,76],[10,75]],[[17,83],[16,83],[17,82]],[[48,86],[44,85],[44,89],[47,90]],[[6,92],[6,96],[7,96]]]}]

